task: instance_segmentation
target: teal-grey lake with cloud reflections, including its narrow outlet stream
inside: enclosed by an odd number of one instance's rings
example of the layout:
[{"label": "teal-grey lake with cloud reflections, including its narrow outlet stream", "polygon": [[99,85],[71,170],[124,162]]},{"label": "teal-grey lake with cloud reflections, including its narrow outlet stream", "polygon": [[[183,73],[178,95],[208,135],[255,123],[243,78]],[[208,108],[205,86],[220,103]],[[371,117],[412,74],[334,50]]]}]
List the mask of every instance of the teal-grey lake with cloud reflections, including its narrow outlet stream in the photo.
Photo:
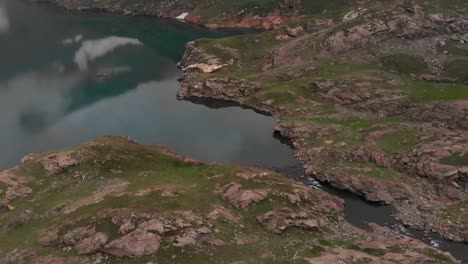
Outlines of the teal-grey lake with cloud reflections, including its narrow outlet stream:
[{"label": "teal-grey lake with cloud reflections, including its narrow outlet stream", "polygon": [[[182,75],[176,63],[186,42],[245,31],[64,12],[22,1],[0,2],[0,16],[0,169],[31,152],[118,135],[205,162],[260,166],[310,181],[292,149],[274,137],[272,117],[225,103],[176,99]],[[391,207],[322,188],[345,199],[351,223],[402,229]],[[466,245],[437,236],[426,240],[440,240],[441,249],[468,261]]]}]

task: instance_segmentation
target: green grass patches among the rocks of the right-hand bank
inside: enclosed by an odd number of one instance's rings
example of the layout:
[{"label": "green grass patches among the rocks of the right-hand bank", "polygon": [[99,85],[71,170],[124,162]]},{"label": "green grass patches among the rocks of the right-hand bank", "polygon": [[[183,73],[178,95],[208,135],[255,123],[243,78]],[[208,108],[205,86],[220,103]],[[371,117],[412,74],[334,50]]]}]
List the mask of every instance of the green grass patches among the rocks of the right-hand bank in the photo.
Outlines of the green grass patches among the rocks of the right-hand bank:
[{"label": "green grass patches among the rocks of the right-hand bank", "polygon": [[[366,7],[369,10],[383,10],[388,5],[390,5],[388,2],[373,2],[372,5]],[[425,1],[424,8],[428,12],[466,14],[468,4],[464,1],[454,0],[449,3],[434,0]],[[448,41],[445,46],[437,50],[436,56],[442,58],[442,76],[457,79],[452,83],[420,80],[418,76],[430,73],[431,69],[426,64],[426,58],[410,49],[389,50],[379,45],[366,45],[356,51],[361,54],[360,56],[367,53],[377,58],[376,61],[371,62],[353,61],[341,55],[317,57],[318,43],[322,41],[323,35],[331,35],[333,32],[349,28],[357,23],[339,21],[349,10],[350,7],[345,6],[343,9],[335,10],[334,14],[306,17],[304,21],[299,21],[294,26],[310,25],[314,21],[329,18],[338,20],[338,23],[329,28],[318,26],[311,30],[313,33],[306,33],[286,41],[277,38],[287,32],[285,27],[256,35],[201,40],[197,42],[198,47],[224,62],[234,58],[234,64],[211,74],[191,73],[193,77],[191,80],[228,76],[259,83],[261,89],[253,95],[238,98],[238,100],[253,106],[258,106],[259,102],[268,102],[268,107],[271,106],[274,109],[280,124],[300,123],[324,129],[339,127],[338,130],[329,132],[325,136],[319,137],[317,134],[312,134],[308,139],[301,138],[299,144],[306,150],[323,148],[325,153],[343,151],[353,153],[360,146],[369,143],[366,138],[379,126],[406,127],[401,131],[387,133],[375,139],[373,146],[389,157],[410,153],[417,147],[438,139],[431,132],[409,128],[419,126],[420,123],[411,120],[411,115],[405,116],[404,112],[392,116],[379,113],[378,105],[375,111],[359,111],[334,101],[324,100],[316,90],[315,83],[332,81],[335,85],[338,83],[344,87],[340,89],[351,92],[359,89],[360,85],[368,85],[372,87],[371,91],[382,89],[384,93],[399,96],[403,105],[412,108],[424,109],[425,106],[439,103],[468,100],[468,83],[466,82],[468,44]],[[277,65],[270,69],[268,65],[272,62]],[[382,107],[385,106],[382,105]],[[314,171],[343,170],[374,179],[391,180],[396,184],[403,180],[410,186],[414,186],[416,190],[420,188],[419,178],[416,175],[402,174],[401,171],[393,168],[383,168],[372,163],[337,161],[334,155],[326,155],[323,152],[318,158],[312,159],[318,159],[318,162],[314,162],[321,164],[313,167]],[[459,167],[468,166],[466,155],[463,153],[455,153],[452,157],[444,158],[440,163]],[[423,189],[419,191],[425,192]],[[448,214],[448,218],[450,215],[457,215],[452,220],[457,223],[466,222],[466,217],[458,217],[465,215],[463,212],[466,211],[466,203],[460,202],[450,208],[447,210],[452,213]]]}]

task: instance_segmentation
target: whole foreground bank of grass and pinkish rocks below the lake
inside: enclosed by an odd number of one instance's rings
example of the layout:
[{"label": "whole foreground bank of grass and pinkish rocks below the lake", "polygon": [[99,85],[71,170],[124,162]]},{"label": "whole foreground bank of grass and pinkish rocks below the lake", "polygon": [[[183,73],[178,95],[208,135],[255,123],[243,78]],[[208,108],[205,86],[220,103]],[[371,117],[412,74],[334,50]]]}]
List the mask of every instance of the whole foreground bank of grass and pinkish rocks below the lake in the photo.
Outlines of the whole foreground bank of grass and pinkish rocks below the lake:
[{"label": "whole foreground bank of grass and pinkish rocks below the lake", "polygon": [[0,177],[1,263],[456,263],[271,171],[101,138]]}]

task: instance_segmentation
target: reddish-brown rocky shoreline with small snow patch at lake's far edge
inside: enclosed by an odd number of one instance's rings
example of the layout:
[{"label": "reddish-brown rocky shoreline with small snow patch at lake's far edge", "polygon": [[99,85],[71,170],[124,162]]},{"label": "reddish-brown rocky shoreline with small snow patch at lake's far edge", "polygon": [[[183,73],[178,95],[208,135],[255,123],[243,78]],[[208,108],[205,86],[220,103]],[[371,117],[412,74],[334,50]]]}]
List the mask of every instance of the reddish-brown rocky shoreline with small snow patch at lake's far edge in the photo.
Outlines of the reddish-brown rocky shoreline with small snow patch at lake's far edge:
[{"label": "reddish-brown rocky shoreline with small snow patch at lake's far edge", "polygon": [[[157,0],[157,1],[90,1],[90,0],[35,0],[34,2],[53,4],[66,10],[107,12],[128,16],[151,16],[172,18],[205,26],[218,28],[259,28],[274,29],[300,19],[297,11],[298,1],[278,1],[277,8],[257,10],[236,8],[217,10],[205,14],[205,9],[216,3],[206,5],[195,0]],[[233,6],[235,7],[235,5]],[[219,13],[218,13],[219,12]],[[258,13],[260,12],[260,13]]]}]

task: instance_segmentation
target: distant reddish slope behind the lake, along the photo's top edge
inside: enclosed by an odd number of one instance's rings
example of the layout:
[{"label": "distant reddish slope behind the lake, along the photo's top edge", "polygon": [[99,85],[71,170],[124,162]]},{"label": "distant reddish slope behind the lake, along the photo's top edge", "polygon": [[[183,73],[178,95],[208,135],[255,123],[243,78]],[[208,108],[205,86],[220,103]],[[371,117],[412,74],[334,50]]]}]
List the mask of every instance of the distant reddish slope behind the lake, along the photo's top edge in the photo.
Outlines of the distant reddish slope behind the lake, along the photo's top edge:
[{"label": "distant reddish slope behind the lake, along the photo's top edge", "polygon": [[126,15],[179,17],[210,28],[272,29],[323,11],[334,12],[355,0],[40,0],[69,10],[105,11]]}]

